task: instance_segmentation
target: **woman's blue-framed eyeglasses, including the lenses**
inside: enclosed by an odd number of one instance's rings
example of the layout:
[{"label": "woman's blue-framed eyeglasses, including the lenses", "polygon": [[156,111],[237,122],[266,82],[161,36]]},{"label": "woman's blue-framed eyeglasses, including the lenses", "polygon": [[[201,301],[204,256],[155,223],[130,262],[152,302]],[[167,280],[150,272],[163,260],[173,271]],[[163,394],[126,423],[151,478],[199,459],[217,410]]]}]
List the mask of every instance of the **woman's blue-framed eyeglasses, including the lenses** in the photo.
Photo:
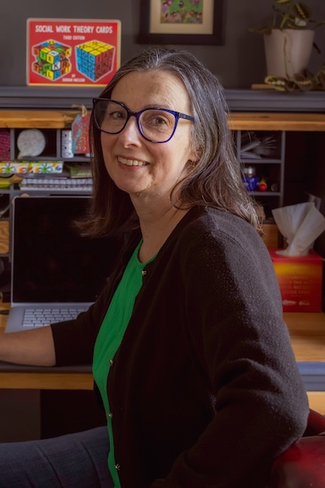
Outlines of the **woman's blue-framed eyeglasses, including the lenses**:
[{"label": "woman's blue-framed eyeglasses, including the lenses", "polygon": [[93,99],[96,128],[106,134],[119,134],[131,116],[137,119],[137,129],[150,142],[168,142],[175,133],[179,119],[195,122],[194,117],[169,108],[144,108],[132,112],[127,106],[108,98]]}]

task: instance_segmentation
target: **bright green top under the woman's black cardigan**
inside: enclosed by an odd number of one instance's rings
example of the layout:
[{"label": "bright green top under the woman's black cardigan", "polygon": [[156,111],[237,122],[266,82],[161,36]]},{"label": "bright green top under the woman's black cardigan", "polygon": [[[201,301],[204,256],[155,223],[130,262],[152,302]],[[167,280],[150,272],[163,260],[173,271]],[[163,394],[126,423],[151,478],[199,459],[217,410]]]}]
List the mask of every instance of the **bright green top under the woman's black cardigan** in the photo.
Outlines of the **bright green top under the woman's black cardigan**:
[{"label": "bright green top under the woman's black cardigan", "polygon": [[154,260],[154,257],[146,263],[138,260],[138,250],[142,240],[137,245],[134,253],[129,259],[121,282],[119,283],[104,316],[103,324],[96,338],[93,358],[93,375],[101,393],[107,417],[108,436],[110,440],[110,452],[108,455],[108,468],[112,475],[114,488],[121,488],[118,475],[119,466],[114,456],[113,434],[112,434],[112,412],[110,410],[107,396],[107,378],[112,367],[112,360],[119,349],[124,332],[129,324],[132,315],[137,293],[142,286],[142,272],[147,263]]}]

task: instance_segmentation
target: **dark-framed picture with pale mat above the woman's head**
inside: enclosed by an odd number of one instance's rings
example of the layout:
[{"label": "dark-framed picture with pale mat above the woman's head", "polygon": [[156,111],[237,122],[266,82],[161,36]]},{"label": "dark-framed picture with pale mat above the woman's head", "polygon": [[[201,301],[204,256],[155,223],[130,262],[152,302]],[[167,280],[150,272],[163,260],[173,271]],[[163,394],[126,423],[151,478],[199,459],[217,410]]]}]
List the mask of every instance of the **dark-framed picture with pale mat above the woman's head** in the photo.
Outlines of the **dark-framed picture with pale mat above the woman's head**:
[{"label": "dark-framed picture with pale mat above the woman's head", "polygon": [[140,0],[140,44],[223,44],[224,0]]}]

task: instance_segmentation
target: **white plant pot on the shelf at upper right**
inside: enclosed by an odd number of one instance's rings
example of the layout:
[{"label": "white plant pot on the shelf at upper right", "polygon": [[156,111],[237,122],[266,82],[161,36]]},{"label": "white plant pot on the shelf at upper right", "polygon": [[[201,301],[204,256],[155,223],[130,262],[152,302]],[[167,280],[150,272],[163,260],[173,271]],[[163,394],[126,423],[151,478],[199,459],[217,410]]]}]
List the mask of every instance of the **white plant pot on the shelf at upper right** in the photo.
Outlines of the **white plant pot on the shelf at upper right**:
[{"label": "white plant pot on the shelf at upper right", "polygon": [[269,76],[292,78],[308,67],[314,30],[272,29],[264,35],[266,68]]}]

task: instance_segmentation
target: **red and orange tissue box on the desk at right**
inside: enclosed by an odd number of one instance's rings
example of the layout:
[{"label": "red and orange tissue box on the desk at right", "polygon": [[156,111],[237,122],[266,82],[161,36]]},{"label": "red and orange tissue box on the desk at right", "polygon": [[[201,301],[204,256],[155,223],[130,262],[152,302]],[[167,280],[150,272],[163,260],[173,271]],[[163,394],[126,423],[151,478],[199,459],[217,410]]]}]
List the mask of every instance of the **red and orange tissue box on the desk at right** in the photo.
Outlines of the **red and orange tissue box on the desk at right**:
[{"label": "red and orange tissue box on the desk at right", "polygon": [[269,249],[278,278],[284,312],[321,312],[322,257],[287,257]]}]

